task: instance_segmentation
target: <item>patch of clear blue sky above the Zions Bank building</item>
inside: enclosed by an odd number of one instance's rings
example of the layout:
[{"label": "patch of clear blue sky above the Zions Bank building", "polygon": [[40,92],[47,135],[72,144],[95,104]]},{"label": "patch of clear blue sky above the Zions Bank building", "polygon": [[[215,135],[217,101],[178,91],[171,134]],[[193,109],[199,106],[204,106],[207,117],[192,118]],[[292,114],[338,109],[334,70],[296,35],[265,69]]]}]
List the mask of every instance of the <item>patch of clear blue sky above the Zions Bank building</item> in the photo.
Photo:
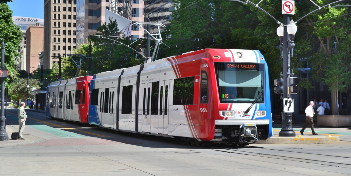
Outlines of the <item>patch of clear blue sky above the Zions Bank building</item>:
[{"label": "patch of clear blue sky above the Zions Bank building", "polygon": [[44,19],[44,0],[13,0],[7,2],[12,16]]}]

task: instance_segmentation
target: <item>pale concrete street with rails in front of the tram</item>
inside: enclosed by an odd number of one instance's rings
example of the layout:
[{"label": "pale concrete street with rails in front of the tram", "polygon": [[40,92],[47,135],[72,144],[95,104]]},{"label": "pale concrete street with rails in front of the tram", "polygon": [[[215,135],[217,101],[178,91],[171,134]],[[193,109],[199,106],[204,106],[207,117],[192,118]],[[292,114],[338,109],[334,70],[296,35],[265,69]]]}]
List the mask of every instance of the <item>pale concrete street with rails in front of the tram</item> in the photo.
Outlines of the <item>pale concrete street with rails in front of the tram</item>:
[{"label": "pale concrete street with rails in front of the tram", "polygon": [[[27,115],[26,140],[0,141],[0,175],[351,175],[349,128],[316,127],[339,135],[340,143],[201,147]],[[17,109],[7,109],[6,117],[11,138]],[[279,126],[274,122],[275,135]]]}]

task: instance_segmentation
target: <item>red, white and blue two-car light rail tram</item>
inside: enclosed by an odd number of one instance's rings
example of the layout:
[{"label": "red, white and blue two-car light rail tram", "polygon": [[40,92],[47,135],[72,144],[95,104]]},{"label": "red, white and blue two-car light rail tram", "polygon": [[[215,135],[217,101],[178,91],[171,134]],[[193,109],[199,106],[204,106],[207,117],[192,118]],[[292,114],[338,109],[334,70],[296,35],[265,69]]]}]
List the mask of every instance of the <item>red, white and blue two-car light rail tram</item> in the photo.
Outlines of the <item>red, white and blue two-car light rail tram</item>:
[{"label": "red, white and blue two-car light rail tram", "polygon": [[53,82],[46,115],[199,143],[244,145],[273,134],[268,68],[258,50],[202,49]]}]

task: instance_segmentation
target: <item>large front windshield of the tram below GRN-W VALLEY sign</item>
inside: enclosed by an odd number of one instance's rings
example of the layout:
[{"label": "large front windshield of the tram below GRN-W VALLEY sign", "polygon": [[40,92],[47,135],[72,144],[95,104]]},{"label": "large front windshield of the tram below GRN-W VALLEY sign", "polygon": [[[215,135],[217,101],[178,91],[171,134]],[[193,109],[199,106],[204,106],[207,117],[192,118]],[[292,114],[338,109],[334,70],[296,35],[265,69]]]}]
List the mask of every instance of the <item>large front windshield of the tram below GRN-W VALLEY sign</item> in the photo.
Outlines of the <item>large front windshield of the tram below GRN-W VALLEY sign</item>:
[{"label": "large front windshield of the tram below GRN-W VALLEY sign", "polygon": [[[215,62],[221,103],[252,103],[264,88],[263,63]],[[263,103],[262,95],[257,103]]]}]

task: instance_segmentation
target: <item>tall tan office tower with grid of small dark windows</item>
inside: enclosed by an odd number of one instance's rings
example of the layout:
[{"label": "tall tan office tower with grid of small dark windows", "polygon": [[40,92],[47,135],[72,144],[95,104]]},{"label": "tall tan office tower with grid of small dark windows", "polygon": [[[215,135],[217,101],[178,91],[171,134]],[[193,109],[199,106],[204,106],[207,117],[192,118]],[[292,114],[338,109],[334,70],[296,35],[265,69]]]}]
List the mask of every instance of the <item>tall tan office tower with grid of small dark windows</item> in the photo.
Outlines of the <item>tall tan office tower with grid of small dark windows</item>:
[{"label": "tall tan office tower with grid of small dark windows", "polygon": [[76,4],[77,0],[44,0],[44,69],[76,47]]}]

